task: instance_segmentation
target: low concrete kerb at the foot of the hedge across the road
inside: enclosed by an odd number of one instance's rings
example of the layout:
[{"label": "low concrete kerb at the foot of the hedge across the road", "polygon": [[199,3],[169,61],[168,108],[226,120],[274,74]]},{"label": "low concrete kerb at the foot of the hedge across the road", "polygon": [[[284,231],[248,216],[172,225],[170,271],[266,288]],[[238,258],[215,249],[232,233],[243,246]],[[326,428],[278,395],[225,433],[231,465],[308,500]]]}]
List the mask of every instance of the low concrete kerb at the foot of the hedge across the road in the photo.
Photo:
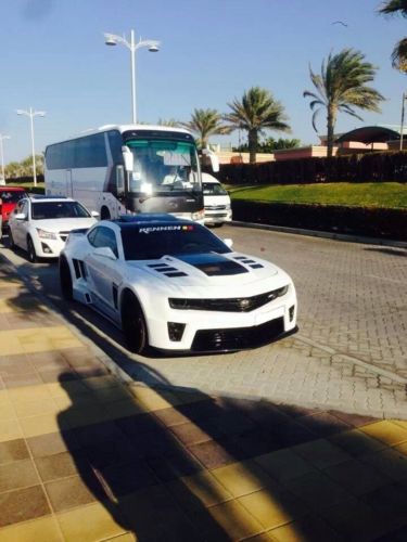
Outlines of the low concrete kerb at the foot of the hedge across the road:
[{"label": "low concrete kerb at the foot of the hedge across the road", "polygon": [[407,248],[407,242],[386,240],[379,237],[365,237],[363,235],[351,235],[345,233],[332,233],[318,230],[304,230],[301,228],[287,228],[283,225],[257,224],[253,222],[240,222],[233,220],[230,225],[239,225],[241,228],[254,228],[257,230],[270,230],[280,233],[294,233],[296,235],[308,235],[311,237],[331,238],[336,241],[347,241],[348,243],[364,243],[366,245],[394,246],[397,248]]}]

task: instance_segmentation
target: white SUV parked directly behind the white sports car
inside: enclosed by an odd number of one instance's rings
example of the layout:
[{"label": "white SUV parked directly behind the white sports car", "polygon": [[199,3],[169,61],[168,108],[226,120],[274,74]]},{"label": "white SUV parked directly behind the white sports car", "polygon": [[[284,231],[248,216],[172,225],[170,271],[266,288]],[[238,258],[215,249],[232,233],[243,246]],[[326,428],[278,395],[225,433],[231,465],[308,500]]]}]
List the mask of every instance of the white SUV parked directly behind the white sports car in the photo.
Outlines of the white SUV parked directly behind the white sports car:
[{"label": "white SUV parked directly behind the white sports car", "polygon": [[67,197],[24,197],[10,215],[10,248],[23,248],[31,262],[38,258],[58,258],[69,232],[90,228],[97,216]]}]

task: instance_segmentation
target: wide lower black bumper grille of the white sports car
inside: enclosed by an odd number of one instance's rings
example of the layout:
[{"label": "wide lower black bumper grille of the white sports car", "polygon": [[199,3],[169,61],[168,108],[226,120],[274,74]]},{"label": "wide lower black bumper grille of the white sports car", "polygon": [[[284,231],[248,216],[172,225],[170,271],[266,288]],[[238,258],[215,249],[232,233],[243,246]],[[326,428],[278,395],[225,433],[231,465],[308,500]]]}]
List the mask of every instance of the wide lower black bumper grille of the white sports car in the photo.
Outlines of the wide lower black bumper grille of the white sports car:
[{"label": "wide lower black bumper grille of the white sports car", "polygon": [[271,343],[283,332],[284,319],[282,317],[252,327],[200,330],[195,333],[191,350],[214,352],[256,348]]}]

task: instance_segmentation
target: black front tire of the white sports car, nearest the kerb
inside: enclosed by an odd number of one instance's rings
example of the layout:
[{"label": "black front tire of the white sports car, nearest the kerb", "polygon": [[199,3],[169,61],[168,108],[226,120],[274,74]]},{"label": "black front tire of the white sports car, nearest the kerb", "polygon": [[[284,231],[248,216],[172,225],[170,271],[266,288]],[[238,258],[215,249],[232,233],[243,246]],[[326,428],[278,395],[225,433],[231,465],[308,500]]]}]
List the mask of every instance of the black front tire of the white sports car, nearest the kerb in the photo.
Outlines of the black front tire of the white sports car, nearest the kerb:
[{"label": "black front tire of the white sports car, nearest the kerb", "polygon": [[127,295],[122,308],[122,330],[127,348],[143,353],[149,347],[149,337],[143,311],[133,295]]}]

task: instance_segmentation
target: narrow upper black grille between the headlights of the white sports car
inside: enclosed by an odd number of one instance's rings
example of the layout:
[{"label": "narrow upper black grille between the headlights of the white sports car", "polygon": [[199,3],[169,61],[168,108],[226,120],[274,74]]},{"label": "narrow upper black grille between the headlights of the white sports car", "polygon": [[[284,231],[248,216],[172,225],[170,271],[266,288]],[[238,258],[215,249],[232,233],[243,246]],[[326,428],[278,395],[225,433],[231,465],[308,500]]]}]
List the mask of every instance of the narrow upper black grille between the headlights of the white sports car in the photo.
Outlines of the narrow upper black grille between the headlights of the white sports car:
[{"label": "narrow upper black grille between the headlights of the white sports car", "polygon": [[251,312],[264,305],[281,297],[287,293],[288,287],[274,289],[252,297],[216,298],[216,299],[182,299],[169,298],[169,306],[173,309],[183,310],[215,310],[220,312]]}]

